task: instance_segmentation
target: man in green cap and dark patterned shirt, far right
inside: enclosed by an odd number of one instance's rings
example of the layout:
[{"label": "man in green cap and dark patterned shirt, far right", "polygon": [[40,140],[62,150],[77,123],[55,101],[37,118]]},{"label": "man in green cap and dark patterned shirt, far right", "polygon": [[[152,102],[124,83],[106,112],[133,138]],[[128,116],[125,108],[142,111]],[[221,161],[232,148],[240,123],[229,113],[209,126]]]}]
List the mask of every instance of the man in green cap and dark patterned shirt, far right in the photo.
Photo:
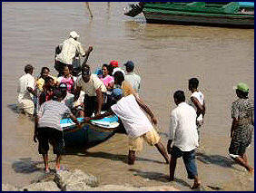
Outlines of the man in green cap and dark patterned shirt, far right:
[{"label": "man in green cap and dark patterned shirt, far right", "polygon": [[231,105],[232,124],[229,153],[231,159],[234,159],[250,173],[254,173],[245,154],[251,144],[254,130],[254,101],[248,98],[249,86],[246,83],[239,83],[235,90],[238,99]]}]

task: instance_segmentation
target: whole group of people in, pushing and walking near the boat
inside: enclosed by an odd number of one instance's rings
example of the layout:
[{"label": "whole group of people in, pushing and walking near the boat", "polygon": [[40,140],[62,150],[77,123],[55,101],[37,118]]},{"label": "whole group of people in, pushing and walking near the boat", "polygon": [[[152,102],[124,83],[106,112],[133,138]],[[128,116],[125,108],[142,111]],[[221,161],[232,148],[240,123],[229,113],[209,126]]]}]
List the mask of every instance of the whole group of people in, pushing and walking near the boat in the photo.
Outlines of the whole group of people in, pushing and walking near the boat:
[{"label": "whole group of people in, pushing and walking near the boat", "polygon": [[[54,141],[54,154],[57,155],[55,169],[60,169],[61,155],[64,154],[61,119],[70,117],[81,128],[81,122],[76,117],[84,117],[84,122],[88,122],[115,114],[122,121],[129,138],[128,164],[134,164],[135,153],[143,150],[145,140],[156,147],[165,163],[170,163],[170,181],[174,179],[176,161],[182,157],[188,178],[194,179],[192,188],[198,188],[201,179],[197,172],[195,149],[199,146],[200,128],[206,110],[204,96],[198,90],[198,79],[192,78],[188,82],[192,92],[188,102],[185,101],[183,91],[173,94],[177,107],[171,113],[169,140],[165,149],[154,129],[157,120],[153,111],[139,96],[141,77],[133,72],[134,63],[124,63],[125,72],[117,61],[111,61],[109,64],[104,63],[102,69],[94,73],[90,65],[83,63],[82,74],[75,77],[75,55],[88,56],[93,49],[90,46],[84,52],[77,41],[78,37],[74,31],[71,32],[69,39],[57,49],[55,69],[59,72],[58,78],[49,74],[49,68],[43,67],[40,77],[34,80],[34,67],[28,64],[25,66],[25,75],[19,79],[18,110],[29,115],[35,114],[34,141],[39,140],[38,150],[43,155],[45,172],[50,171],[49,140]],[[253,173],[245,150],[251,143],[254,130],[254,103],[248,98],[247,84],[239,83],[236,93],[239,99],[232,103],[229,152],[232,159]],[[34,98],[38,100],[34,100],[33,96],[37,96]],[[151,121],[143,111],[150,116]],[[171,159],[167,153],[171,154]]]}]

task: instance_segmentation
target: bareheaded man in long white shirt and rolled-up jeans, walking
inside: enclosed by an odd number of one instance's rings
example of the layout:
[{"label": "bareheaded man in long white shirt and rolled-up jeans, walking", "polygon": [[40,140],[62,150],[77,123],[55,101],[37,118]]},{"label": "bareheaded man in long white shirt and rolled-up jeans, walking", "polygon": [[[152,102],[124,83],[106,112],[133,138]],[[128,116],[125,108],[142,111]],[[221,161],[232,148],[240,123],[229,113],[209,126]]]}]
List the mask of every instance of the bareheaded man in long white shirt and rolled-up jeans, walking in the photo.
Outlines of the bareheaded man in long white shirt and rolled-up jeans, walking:
[{"label": "bareheaded man in long white shirt and rolled-up jeans, walking", "polygon": [[192,188],[199,188],[201,180],[198,178],[195,162],[195,149],[198,147],[196,111],[185,102],[184,92],[175,92],[173,98],[177,107],[171,113],[170,135],[167,144],[168,153],[171,154],[169,180],[174,180],[176,161],[182,157],[188,178],[194,179]]}]

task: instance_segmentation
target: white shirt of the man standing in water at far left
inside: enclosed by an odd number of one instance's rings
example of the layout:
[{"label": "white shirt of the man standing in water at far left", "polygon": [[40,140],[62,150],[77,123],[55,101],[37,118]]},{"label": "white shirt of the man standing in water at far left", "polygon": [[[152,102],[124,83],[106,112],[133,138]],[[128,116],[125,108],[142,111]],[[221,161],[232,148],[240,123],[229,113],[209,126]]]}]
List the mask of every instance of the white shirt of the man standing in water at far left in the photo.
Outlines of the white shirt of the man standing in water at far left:
[{"label": "white shirt of the man standing in water at far left", "polygon": [[26,73],[19,78],[18,82],[18,102],[22,100],[32,100],[33,94],[27,91],[27,87],[30,87],[34,90],[34,77],[30,73]]}]

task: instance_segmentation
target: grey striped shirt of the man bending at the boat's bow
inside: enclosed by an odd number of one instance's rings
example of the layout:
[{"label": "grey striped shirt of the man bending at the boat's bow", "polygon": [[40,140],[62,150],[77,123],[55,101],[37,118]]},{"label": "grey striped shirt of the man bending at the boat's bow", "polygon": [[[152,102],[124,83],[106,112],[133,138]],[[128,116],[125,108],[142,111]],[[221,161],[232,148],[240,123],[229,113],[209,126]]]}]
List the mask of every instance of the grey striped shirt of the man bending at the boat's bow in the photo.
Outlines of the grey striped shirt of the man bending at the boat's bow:
[{"label": "grey striped shirt of the man bending at the boat's bow", "polygon": [[45,101],[38,111],[38,128],[54,128],[62,130],[61,120],[71,115],[69,108],[60,101]]}]

